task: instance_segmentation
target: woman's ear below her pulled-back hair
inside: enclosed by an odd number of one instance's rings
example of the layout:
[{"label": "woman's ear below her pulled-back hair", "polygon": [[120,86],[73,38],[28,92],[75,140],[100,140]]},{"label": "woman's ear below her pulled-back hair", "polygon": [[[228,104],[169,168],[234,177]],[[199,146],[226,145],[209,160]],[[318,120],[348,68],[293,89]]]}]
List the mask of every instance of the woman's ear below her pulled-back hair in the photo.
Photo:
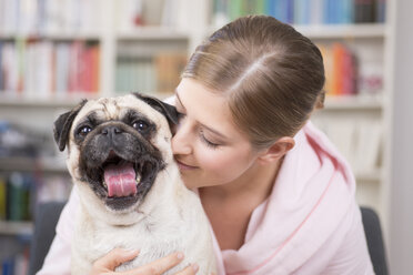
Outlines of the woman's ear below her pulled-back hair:
[{"label": "woman's ear below her pulled-back hair", "polygon": [[264,150],[259,156],[258,161],[261,164],[269,164],[279,161],[295,145],[295,141],[291,136],[283,136],[279,139],[274,144]]}]

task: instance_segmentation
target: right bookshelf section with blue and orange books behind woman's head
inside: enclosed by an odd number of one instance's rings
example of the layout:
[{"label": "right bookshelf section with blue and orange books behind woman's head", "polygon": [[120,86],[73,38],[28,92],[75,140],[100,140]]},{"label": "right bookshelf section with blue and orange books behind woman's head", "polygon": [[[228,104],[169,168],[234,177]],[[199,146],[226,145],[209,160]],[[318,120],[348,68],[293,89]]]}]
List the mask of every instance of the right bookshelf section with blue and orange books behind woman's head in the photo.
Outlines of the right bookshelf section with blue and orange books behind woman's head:
[{"label": "right bookshelf section with blue and orange books behind woman's head", "polygon": [[[353,79],[343,89],[326,83],[324,109],[313,114],[313,122],[335,143],[350,161],[357,182],[356,197],[360,204],[375,208],[386,221],[389,102],[392,91],[385,74],[391,42],[390,24],[385,18],[386,1],[223,1],[210,6],[210,26],[206,34],[238,16],[271,14],[292,24],[322,50],[328,82],[336,74]],[[366,4],[364,7],[357,4]],[[279,11],[284,10],[283,14]],[[326,11],[330,11],[328,13]],[[364,13],[365,12],[365,13]],[[353,71],[340,69],[334,48],[346,52]],[[342,58],[343,59],[343,58]],[[339,67],[339,69],[336,69]],[[354,84],[355,83],[355,84]],[[357,144],[353,145],[352,144]],[[385,225],[384,225],[385,227]]]}]

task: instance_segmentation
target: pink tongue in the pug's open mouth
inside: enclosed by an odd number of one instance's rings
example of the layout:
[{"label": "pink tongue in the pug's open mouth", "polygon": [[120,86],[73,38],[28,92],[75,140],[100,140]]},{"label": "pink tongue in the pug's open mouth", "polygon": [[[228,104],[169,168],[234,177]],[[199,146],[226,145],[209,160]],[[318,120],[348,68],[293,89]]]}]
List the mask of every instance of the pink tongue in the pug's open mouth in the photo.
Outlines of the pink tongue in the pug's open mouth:
[{"label": "pink tongue in the pug's open mouth", "polygon": [[135,179],[137,174],[133,164],[130,162],[108,165],[104,169],[108,196],[129,196],[137,194]]}]

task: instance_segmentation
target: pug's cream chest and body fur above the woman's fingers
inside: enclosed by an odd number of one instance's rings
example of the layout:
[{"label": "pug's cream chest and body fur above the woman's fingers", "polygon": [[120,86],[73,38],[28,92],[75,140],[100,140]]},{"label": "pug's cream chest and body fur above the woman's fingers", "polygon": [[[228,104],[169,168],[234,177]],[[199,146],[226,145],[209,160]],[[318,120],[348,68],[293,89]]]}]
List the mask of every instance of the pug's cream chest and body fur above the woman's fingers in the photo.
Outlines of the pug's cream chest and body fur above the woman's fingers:
[{"label": "pug's cream chest and body fur above the woman's fingers", "polygon": [[94,261],[114,247],[140,251],[134,261],[119,266],[117,271],[131,269],[173,252],[182,252],[185,255],[184,261],[164,274],[174,274],[193,263],[199,264],[199,274],[214,272],[211,235],[205,226],[205,216],[200,215],[203,210],[198,203],[199,198],[184,187],[163,193],[181,193],[178,197],[174,196],[180,204],[169,200],[170,194],[157,194],[154,186],[154,192],[149,194],[148,200],[153,201],[157,197],[159,207],[151,208],[149,216],[130,226],[113,226],[90,216],[88,206],[82,202],[72,246],[72,274],[87,274]]}]

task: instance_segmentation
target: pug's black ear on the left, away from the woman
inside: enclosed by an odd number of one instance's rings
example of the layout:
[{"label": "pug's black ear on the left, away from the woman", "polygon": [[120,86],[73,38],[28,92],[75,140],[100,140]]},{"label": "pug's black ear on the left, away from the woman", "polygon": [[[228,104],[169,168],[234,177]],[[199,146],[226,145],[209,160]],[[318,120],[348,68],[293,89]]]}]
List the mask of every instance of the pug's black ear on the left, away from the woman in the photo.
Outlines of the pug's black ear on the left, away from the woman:
[{"label": "pug's black ear on the left, away from the woman", "polygon": [[74,121],[74,118],[78,115],[79,111],[83,108],[83,105],[87,102],[88,100],[82,100],[75,108],[73,108],[69,112],[59,115],[59,118],[54,121],[53,136],[60,151],[64,151],[66,144],[68,144],[69,141],[69,132]]}]

